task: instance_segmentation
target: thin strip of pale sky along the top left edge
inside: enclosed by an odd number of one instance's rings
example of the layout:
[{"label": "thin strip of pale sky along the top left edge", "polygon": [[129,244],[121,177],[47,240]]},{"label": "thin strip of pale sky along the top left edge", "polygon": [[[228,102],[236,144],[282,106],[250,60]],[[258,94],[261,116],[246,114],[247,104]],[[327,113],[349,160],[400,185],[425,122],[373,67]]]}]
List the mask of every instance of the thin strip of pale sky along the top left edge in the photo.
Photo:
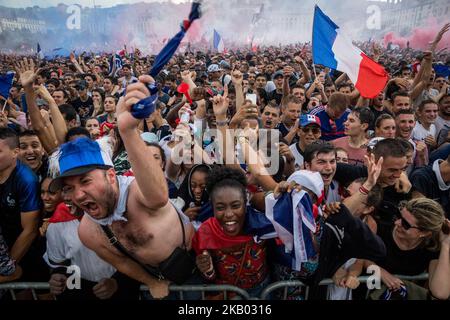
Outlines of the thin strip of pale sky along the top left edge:
[{"label": "thin strip of pale sky along the top left edge", "polygon": [[[94,4],[102,7],[113,7],[117,4],[131,4],[138,2],[168,2],[169,0],[0,0],[0,5],[10,8],[26,8],[39,6],[41,8],[54,7],[59,3],[79,4],[93,7]],[[187,0],[172,0],[174,3],[186,2]]]}]

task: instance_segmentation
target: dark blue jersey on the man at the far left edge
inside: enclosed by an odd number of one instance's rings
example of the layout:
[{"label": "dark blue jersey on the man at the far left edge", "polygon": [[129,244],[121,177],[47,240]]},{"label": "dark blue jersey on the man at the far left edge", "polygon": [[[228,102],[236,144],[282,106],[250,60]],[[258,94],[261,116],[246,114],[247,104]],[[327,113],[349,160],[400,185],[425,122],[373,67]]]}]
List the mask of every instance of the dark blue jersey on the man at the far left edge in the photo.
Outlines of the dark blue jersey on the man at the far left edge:
[{"label": "dark blue jersey on the man at the far left edge", "polygon": [[40,209],[38,178],[30,167],[17,160],[9,178],[0,184],[0,227],[10,248],[22,232],[21,212]]}]

